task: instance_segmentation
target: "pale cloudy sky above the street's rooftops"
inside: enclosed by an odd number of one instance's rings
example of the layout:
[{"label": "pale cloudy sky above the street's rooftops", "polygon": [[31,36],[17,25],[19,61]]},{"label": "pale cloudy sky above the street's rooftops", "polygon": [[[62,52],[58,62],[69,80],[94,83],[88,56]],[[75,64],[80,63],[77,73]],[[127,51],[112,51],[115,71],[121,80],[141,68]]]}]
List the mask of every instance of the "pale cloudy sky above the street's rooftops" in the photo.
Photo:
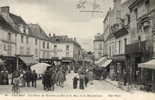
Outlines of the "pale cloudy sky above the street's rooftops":
[{"label": "pale cloudy sky above the street's rooftops", "polygon": [[84,7],[77,8],[84,0],[0,0],[0,6],[9,5],[12,13],[21,16],[27,23],[39,24],[47,34],[76,37],[82,47],[93,50],[93,39],[103,33],[103,19],[112,0],[96,0],[99,6],[90,13],[94,0],[86,0]]}]

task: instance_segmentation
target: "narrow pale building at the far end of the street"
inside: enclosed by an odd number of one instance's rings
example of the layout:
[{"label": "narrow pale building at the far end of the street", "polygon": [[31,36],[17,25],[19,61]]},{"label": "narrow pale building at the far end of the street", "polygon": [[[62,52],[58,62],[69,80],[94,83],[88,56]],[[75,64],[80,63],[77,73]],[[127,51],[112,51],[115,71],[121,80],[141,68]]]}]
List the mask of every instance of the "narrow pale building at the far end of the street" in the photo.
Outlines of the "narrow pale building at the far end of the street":
[{"label": "narrow pale building at the far end of the street", "polygon": [[100,33],[94,39],[94,55],[96,60],[104,56],[104,38]]}]

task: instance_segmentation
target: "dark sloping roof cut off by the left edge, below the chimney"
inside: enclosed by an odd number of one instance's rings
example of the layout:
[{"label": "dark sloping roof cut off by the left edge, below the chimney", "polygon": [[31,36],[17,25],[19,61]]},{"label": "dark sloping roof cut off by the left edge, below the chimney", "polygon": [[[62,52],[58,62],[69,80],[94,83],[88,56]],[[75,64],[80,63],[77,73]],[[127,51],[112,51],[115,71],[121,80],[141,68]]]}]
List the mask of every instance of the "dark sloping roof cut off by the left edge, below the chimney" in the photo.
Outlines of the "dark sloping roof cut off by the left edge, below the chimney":
[{"label": "dark sloping roof cut off by the left edge, below the chimney", "polygon": [[[17,32],[14,28],[0,15],[0,27],[5,30]],[[18,33],[18,32],[17,32]]]}]

